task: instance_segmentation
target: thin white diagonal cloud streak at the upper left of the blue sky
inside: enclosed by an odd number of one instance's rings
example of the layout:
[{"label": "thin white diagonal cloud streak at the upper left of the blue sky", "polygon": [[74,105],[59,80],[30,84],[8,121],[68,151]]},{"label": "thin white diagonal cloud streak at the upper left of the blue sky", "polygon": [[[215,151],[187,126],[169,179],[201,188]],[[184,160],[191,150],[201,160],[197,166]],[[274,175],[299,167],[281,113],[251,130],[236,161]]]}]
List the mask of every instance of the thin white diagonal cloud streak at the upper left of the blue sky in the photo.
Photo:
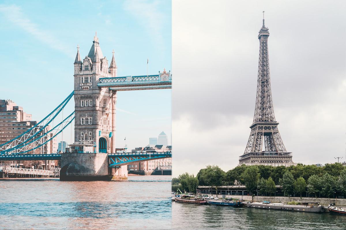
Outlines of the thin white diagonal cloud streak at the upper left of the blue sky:
[{"label": "thin white diagonal cloud streak at the upper left of the blue sky", "polygon": [[59,50],[67,56],[74,57],[71,50],[67,49],[60,40],[49,34],[49,31],[44,31],[39,28],[39,25],[32,22],[19,6],[16,5],[0,5],[0,12],[10,23],[23,29],[27,33],[34,36],[37,40],[43,42],[49,47]]}]

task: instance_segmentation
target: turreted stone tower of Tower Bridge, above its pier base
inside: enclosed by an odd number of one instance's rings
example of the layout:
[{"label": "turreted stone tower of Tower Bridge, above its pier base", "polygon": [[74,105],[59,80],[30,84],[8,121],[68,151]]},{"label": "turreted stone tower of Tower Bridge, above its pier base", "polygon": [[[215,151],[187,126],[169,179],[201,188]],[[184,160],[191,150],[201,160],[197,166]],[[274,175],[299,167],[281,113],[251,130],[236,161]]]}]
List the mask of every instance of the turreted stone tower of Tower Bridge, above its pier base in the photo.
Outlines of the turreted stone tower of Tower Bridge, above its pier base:
[{"label": "turreted stone tower of Tower Bridge, above its pier base", "polygon": [[102,54],[95,35],[89,54],[80,58],[79,46],[74,62],[75,144],[94,145],[95,153],[115,153],[117,92],[97,86],[100,77],[116,77],[113,56]]}]

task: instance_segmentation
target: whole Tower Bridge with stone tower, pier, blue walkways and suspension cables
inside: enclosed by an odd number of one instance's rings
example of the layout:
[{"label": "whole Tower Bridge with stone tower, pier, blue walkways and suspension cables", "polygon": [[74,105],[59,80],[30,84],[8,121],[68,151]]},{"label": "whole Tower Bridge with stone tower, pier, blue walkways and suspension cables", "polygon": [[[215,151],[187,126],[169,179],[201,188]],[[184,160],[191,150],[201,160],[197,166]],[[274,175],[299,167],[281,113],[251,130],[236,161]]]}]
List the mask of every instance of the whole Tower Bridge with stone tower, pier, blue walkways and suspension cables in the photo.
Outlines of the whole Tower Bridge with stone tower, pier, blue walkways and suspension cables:
[{"label": "whole Tower Bridge with stone tower, pier, blue walkways and suspension cables", "polygon": [[[123,180],[126,164],[171,157],[171,152],[157,154],[116,153],[116,103],[118,91],[171,89],[171,72],[157,75],[117,76],[114,50],[108,65],[97,34],[88,55],[80,57],[79,46],[74,61],[74,90],[43,120],[18,137],[0,145],[0,160],[61,159],[60,180]],[[74,99],[74,111],[53,126],[65,105]],[[37,154],[39,148],[62,134],[75,121],[71,153]],[[56,123],[56,122],[55,122]],[[52,126],[52,128],[50,128]],[[49,127],[48,131],[45,128]]]}]

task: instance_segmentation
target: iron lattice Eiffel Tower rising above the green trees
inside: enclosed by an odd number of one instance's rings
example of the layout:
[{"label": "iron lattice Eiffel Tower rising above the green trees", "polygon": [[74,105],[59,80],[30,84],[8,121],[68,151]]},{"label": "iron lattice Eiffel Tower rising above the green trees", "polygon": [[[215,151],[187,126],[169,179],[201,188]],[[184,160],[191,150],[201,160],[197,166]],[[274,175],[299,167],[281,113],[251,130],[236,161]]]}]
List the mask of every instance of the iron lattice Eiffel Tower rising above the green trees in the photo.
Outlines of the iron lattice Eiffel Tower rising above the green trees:
[{"label": "iron lattice Eiffel Tower rising above the green trees", "polygon": [[[275,119],[272,91],[270,86],[269,29],[264,25],[258,34],[260,40],[260,56],[258,58],[257,95],[253,124],[244,154],[239,157],[239,165],[272,165],[289,166],[292,162],[292,153],[289,153],[280,136]],[[264,141],[264,150],[263,147]]]}]

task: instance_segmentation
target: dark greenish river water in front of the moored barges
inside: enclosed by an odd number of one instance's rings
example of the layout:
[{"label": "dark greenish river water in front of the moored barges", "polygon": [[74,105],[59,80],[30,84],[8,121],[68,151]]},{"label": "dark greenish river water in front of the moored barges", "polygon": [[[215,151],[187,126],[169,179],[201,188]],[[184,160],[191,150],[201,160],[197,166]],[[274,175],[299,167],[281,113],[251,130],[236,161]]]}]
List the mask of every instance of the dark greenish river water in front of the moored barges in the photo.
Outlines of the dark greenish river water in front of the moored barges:
[{"label": "dark greenish river water in front of the moored barges", "polygon": [[172,229],[346,229],[346,216],[172,202]]}]

